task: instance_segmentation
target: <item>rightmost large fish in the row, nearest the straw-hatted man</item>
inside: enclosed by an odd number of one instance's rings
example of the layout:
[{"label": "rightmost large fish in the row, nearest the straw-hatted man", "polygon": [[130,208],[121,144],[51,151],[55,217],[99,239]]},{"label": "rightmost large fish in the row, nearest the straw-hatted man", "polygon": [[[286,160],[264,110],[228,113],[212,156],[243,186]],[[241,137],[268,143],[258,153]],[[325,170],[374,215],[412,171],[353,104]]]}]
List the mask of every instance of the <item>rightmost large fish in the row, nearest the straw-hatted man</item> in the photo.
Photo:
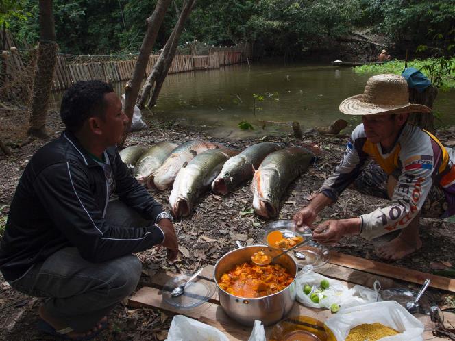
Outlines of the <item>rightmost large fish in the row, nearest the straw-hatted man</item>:
[{"label": "rightmost large fish in the row, nearest the straw-hatted man", "polygon": [[254,212],[265,218],[278,216],[284,191],[314,160],[314,153],[299,147],[267,155],[254,173],[251,184]]}]

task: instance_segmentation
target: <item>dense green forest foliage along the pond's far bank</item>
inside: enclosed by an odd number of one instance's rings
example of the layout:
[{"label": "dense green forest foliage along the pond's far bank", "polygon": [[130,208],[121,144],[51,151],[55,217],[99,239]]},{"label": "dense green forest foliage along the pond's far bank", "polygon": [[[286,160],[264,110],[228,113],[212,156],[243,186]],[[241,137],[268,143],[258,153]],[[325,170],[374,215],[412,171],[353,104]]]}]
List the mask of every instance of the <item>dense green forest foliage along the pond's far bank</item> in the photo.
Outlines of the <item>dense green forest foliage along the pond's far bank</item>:
[{"label": "dense green forest foliage along the pond's far bank", "polygon": [[[137,53],[156,0],[54,0],[62,53]],[[166,43],[182,8],[169,6],[155,49]],[[39,37],[38,1],[1,0],[0,23],[30,43]],[[397,51],[419,45],[455,51],[453,0],[199,0],[181,42],[254,42],[267,55],[298,58],[353,31],[382,34]],[[430,50],[428,50],[430,53]]]}]

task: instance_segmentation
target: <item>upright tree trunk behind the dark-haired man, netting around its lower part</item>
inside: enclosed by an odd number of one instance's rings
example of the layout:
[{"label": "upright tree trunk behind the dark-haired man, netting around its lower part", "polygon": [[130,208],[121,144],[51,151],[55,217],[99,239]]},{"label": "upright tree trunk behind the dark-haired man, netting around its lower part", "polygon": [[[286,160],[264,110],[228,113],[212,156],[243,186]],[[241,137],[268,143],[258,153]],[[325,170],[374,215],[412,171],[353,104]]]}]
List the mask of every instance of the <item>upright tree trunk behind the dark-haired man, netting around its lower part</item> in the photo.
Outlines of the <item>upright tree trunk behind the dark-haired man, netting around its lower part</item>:
[{"label": "upright tree trunk behind the dark-haired man, netting around its lower part", "polygon": [[49,138],[45,125],[57,49],[52,0],[40,0],[40,42],[33,81],[29,136]]}]

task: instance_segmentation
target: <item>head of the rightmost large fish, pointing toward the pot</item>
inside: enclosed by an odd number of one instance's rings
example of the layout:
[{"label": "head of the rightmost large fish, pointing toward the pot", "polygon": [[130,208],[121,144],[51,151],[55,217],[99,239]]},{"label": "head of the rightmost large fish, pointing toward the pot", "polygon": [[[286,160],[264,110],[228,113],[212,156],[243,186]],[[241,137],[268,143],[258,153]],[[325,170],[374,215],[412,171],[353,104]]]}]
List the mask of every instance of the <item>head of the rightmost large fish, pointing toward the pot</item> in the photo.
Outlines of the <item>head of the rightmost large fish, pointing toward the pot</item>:
[{"label": "head of the rightmost large fish, pointing toward the pot", "polygon": [[273,170],[257,170],[253,179],[253,209],[256,214],[265,218],[278,216],[280,197],[278,188],[271,179]]}]

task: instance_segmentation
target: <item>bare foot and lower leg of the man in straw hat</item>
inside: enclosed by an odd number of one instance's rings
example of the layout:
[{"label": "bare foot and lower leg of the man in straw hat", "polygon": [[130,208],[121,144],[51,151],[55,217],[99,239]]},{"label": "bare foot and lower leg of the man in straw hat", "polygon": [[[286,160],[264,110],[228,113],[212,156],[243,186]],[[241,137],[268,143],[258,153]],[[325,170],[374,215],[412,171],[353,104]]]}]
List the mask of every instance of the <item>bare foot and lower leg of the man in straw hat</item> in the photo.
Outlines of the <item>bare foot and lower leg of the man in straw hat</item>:
[{"label": "bare foot and lower leg of the man in straw hat", "polygon": [[397,238],[378,247],[376,254],[384,260],[401,260],[422,247],[419,236],[420,214],[402,229]]}]

